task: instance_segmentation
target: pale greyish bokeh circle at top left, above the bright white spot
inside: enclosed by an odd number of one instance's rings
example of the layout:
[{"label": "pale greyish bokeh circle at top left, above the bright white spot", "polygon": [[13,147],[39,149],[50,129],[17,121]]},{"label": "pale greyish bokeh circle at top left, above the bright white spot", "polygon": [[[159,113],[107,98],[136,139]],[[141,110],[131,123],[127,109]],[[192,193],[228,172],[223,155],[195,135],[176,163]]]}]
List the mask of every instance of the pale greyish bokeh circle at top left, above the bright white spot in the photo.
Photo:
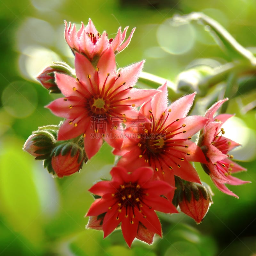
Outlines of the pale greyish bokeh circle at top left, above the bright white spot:
[{"label": "pale greyish bokeh circle at top left, above the bright white spot", "polygon": [[17,44],[21,52],[28,45],[52,45],[54,41],[55,31],[52,25],[44,20],[28,18],[17,31]]}]

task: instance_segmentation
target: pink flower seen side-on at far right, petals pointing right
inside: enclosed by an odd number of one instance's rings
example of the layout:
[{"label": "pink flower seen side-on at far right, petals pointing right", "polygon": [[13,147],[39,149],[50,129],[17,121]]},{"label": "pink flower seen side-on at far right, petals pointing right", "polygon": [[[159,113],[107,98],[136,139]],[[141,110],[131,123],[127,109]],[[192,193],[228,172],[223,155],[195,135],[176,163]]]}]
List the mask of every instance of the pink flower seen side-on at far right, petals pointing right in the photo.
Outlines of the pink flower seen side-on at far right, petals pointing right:
[{"label": "pink flower seen side-on at far right, petals pointing right", "polygon": [[[207,159],[207,164],[202,164],[202,166],[205,172],[210,175],[213,183],[222,192],[236,196],[236,194],[226,187],[225,183],[241,185],[249,181],[239,180],[232,176],[232,173],[246,171],[242,166],[233,162],[231,160],[233,156],[229,154],[229,151],[240,146],[240,144],[224,137],[223,134],[225,132],[221,128],[222,124],[233,115],[220,114],[213,117],[218,108],[227,100],[224,99],[216,102],[205,113],[205,117],[209,118],[209,121],[201,132],[198,145],[202,148]],[[236,197],[238,198],[238,196]]]}]

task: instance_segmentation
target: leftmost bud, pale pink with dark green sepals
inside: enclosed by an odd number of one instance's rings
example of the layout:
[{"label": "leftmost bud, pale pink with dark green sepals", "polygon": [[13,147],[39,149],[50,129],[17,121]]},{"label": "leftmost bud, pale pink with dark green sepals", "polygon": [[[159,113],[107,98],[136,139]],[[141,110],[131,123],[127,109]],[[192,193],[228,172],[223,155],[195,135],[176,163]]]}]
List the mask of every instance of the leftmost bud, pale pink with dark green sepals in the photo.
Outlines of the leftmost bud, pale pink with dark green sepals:
[{"label": "leftmost bud, pale pink with dark green sepals", "polygon": [[28,137],[23,146],[23,150],[35,156],[36,160],[46,159],[51,155],[54,141],[55,139],[50,132],[36,131]]}]

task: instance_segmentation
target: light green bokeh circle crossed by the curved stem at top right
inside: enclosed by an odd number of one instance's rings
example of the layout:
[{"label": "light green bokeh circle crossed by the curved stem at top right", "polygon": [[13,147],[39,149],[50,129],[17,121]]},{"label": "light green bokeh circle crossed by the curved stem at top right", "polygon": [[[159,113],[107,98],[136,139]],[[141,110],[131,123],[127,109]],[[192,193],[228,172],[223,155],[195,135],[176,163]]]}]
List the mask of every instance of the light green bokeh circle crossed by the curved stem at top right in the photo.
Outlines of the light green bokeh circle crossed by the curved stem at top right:
[{"label": "light green bokeh circle crossed by the curved stem at top right", "polygon": [[[226,15],[223,12],[221,12],[220,10],[209,8],[209,9],[201,10],[200,12],[203,12],[210,18],[216,20],[223,27],[227,27],[228,19],[227,19]],[[216,44],[213,37],[211,36],[210,26],[208,26],[208,25],[204,26],[204,27],[195,26],[195,31],[196,31],[196,40],[199,41],[200,43],[206,44],[206,45]]]}]

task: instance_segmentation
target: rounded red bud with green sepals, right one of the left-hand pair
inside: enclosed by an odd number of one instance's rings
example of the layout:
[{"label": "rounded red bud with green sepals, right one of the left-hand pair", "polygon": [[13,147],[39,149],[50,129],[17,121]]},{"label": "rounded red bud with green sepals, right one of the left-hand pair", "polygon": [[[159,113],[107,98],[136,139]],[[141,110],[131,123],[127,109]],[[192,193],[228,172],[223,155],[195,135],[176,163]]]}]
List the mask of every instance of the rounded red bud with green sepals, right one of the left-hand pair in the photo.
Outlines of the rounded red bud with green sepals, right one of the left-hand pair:
[{"label": "rounded red bud with green sepals, right one of the left-hand pair", "polygon": [[55,147],[52,150],[51,156],[51,167],[59,178],[79,172],[82,168],[83,160],[87,160],[84,158],[82,148],[70,142]]}]

